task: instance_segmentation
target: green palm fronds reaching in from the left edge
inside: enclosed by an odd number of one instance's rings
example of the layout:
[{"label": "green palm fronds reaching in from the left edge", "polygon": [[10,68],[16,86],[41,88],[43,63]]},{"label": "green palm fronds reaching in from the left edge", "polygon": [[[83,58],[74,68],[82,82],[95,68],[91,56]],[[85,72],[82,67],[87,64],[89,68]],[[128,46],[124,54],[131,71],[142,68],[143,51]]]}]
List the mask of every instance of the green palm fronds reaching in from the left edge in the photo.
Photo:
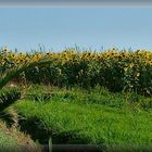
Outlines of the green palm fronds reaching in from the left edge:
[{"label": "green palm fronds reaching in from the left edge", "polygon": [[[2,55],[2,54],[1,54]],[[11,104],[13,104],[16,100],[21,98],[21,91],[16,90],[16,88],[13,89],[3,89],[9,81],[16,78],[20,74],[27,71],[28,68],[35,67],[35,66],[42,66],[43,64],[50,64],[52,61],[48,60],[47,58],[40,59],[40,60],[34,60],[30,59],[28,62],[23,62],[17,66],[9,66],[10,68],[5,67],[5,63],[2,62],[1,64],[1,77],[0,77],[0,114],[1,117],[8,118],[9,114],[5,114],[5,109],[9,107]],[[10,60],[11,61],[11,60]],[[12,64],[12,62],[11,62]]]}]

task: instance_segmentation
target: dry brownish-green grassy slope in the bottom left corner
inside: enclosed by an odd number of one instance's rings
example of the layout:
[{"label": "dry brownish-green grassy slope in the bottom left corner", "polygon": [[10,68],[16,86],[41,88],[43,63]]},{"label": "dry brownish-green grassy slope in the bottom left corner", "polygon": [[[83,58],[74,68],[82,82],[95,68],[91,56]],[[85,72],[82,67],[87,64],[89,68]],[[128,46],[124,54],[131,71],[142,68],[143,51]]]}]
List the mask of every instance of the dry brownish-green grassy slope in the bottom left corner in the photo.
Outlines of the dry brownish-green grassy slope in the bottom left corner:
[{"label": "dry brownish-green grassy slope in the bottom left corner", "polygon": [[18,128],[0,122],[0,152],[40,152],[40,147]]}]

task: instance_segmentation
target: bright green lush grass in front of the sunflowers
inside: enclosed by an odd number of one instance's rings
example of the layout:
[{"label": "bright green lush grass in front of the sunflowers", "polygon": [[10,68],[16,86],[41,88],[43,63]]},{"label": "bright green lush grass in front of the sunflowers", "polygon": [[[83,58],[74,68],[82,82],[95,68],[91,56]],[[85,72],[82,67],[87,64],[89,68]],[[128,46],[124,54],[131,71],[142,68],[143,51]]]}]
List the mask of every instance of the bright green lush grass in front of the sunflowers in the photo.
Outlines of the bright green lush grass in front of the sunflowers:
[{"label": "bright green lush grass in front of the sunflowers", "polygon": [[141,104],[151,99],[139,97],[136,102],[131,93],[126,97],[103,88],[90,92],[53,88],[52,94],[46,102],[24,99],[15,103],[18,113],[45,129],[52,143],[129,147],[138,151],[151,147],[152,111]]}]

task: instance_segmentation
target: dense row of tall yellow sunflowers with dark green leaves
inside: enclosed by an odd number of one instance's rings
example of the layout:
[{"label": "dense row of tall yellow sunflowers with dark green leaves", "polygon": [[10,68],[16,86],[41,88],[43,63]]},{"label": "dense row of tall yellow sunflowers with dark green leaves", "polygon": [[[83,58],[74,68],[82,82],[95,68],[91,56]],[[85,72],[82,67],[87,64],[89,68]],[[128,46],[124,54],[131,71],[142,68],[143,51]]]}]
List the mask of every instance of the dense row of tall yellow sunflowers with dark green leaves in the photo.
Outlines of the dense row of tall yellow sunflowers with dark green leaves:
[{"label": "dense row of tall yellow sunflowers with dark green leaves", "polygon": [[15,80],[50,84],[58,87],[74,86],[90,89],[98,86],[110,91],[136,91],[152,96],[152,52],[135,52],[116,48],[104,52],[79,51],[69,48],[62,52],[13,52],[0,50],[0,74],[27,62],[50,59],[52,63],[35,66]]}]

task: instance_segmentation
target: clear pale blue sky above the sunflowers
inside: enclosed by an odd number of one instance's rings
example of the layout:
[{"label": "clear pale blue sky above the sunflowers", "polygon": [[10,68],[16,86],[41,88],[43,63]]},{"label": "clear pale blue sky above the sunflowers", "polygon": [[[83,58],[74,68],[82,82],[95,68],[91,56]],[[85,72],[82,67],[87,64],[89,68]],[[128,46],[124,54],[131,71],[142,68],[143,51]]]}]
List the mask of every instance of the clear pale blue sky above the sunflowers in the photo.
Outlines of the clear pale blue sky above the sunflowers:
[{"label": "clear pale blue sky above the sunflowers", "polygon": [[152,8],[0,8],[0,48],[152,50]]}]

